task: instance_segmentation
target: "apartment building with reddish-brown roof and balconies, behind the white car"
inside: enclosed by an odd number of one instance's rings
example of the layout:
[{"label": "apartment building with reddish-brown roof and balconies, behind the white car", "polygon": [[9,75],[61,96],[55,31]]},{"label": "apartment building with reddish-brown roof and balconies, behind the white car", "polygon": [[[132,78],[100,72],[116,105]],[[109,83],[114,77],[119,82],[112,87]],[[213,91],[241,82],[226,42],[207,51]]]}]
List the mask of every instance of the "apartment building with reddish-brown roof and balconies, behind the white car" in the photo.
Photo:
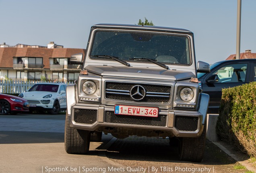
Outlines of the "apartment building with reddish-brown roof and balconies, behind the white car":
[{"label": "apartment building with reddish-brown roof and balconies, behind the white car", "polygon": [[0,44],[0,79],[72,81],[82,65],[70,64],[72,54],[83,53],[81,48],[63,48],[50,42],[47,46]]}]

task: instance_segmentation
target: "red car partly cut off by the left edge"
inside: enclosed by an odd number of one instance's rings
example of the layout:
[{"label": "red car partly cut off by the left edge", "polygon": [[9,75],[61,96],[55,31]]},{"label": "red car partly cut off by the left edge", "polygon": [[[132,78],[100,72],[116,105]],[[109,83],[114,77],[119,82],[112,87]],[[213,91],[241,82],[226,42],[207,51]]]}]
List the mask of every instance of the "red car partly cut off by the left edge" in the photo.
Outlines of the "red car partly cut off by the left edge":
[{"label": "red car partly cut off by the left edge", "polygon": [[23,98],[0,93],[0,115],[28,113],[29,102]]}]

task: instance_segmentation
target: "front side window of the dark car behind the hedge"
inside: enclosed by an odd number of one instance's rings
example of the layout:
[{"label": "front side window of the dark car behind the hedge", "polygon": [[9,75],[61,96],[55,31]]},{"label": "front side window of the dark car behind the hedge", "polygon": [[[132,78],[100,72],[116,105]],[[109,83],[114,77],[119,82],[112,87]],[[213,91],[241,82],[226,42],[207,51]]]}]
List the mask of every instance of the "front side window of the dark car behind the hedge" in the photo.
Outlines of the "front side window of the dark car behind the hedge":
[{"label": "front side window of the dark car behind the hedge", "polygon": [[213,72],[219,77],[218,83],[245,82],[247,64],[229,64]]}]

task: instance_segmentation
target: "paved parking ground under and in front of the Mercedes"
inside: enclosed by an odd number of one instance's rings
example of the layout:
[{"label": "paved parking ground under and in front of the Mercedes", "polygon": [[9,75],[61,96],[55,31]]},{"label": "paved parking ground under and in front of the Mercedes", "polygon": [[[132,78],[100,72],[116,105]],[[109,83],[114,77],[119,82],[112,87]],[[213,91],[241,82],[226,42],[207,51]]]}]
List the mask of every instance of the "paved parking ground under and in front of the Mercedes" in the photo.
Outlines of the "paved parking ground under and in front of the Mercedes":
[{"label": "paved parking ground under and in front of the Mercedes", "polygon": [[64,149],[64,119],[64,114],[0,116],[0,173],[246,171],[235,170],[237,161],[210,141],[201,163],[179,161],[177,148],[169,147],[168,139],[116,140],[110,134],[91,142],[88,155],[70,155]]}]

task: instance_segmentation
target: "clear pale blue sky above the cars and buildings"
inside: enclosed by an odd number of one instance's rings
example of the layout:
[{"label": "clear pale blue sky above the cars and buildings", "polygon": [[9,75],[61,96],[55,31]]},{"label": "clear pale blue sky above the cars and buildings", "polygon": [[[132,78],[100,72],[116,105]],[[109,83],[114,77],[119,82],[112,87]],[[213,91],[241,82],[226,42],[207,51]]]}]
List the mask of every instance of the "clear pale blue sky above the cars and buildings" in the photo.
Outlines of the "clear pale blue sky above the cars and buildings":
[{"label": "clear pale blue sky above the cars and buildings", "polygon": [[[256,0],[242,0],[240,52],[256,53]],[[194,33],[196,60],[236,54],[237,0],[0,0],[0,44],[86,48],[99,23],[184,28]]]}]

